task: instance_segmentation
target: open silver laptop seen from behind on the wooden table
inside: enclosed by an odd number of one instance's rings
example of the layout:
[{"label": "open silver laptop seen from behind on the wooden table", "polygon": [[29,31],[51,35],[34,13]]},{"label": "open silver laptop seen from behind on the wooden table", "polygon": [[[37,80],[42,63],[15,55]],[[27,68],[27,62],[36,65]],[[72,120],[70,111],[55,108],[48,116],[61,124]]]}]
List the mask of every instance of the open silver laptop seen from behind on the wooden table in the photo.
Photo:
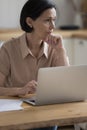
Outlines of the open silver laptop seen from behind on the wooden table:
[{"label": "open silver laptop seen from behind on the wooden table", "polygon": [[40,68],[32,105],[48,105],[87,99],[87,65]]}]

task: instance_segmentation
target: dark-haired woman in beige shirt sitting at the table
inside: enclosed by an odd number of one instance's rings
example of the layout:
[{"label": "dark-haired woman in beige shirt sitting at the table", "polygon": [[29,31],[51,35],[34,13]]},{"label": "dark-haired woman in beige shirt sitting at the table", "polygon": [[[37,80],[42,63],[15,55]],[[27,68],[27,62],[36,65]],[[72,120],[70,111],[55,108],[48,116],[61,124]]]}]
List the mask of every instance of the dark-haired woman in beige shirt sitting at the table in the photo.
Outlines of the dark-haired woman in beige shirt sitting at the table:
[{"label": "dark-haired woman in beige shirt sitting at the table", "polygon": [[61,37],[52,34],[55,19],[53,1],[25,3],[20,16],[25,33],[5,43],[0,50],[0,95],[35,93],[39,68],[69,65]]}]

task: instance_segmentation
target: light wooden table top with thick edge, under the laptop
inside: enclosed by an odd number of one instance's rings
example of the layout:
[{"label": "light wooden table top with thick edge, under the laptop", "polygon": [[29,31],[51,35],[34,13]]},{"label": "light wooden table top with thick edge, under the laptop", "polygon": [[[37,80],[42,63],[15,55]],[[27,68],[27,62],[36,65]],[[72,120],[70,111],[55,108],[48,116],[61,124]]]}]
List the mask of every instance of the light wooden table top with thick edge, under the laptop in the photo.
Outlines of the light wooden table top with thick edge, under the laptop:
[{"label": "light wooden table top with thick edge, under the laptop", "polygon": [[31,106],[24,110],[0,112],[0,130],[23,130],[46,126],[65,126],[87,122],[87,102]]}]

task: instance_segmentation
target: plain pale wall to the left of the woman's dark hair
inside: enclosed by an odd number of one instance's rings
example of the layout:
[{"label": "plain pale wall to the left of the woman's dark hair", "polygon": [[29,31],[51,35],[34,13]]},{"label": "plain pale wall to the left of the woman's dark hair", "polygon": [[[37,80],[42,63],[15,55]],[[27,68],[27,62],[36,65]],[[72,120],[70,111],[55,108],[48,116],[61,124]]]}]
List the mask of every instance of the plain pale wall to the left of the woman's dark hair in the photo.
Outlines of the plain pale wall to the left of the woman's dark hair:
[{"label": "plain pale wall to the left of the woman's dark hair", "polygon": [[20,11],[26,0],[0,0],[0,28],[19,27]]}]

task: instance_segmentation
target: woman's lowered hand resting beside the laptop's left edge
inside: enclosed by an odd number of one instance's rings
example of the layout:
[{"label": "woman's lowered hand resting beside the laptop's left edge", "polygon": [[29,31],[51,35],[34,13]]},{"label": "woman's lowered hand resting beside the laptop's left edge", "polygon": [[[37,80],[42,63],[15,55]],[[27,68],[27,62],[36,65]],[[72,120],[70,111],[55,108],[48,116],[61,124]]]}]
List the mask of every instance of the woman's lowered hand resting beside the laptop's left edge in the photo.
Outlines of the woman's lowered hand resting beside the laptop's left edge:
[{"label": "woman's lowered hand resting beside the laptop's left edge", "polygon": [[20,95],[33,94],[36,92],[37,82],[32,80],[28,82],[23,88],[20,90]]}]

